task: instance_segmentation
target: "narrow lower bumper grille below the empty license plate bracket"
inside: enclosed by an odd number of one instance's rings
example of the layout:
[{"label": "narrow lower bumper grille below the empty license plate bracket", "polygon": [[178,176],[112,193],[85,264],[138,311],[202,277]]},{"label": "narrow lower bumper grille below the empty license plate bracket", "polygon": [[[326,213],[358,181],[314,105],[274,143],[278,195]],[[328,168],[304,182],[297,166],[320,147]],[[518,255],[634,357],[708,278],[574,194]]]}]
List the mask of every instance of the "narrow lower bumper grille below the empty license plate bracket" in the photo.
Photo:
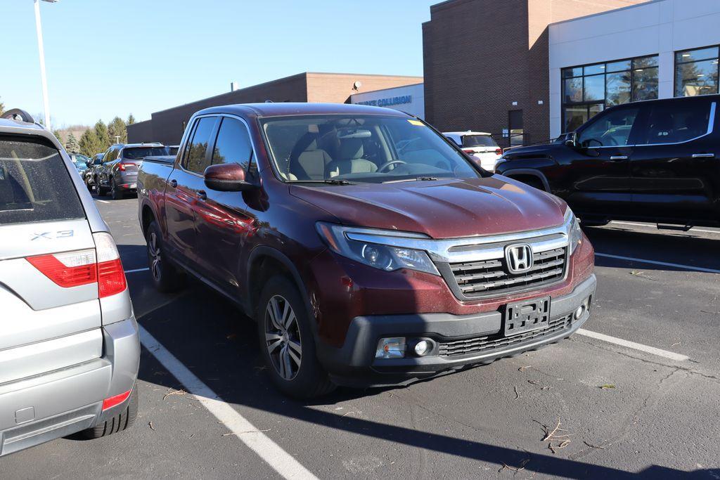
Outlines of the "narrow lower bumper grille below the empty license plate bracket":
[{"label": "narrow lower bumper grille below the empty license plate bracket", "polygon": [[520,343],[526,343],[531,340],[543,338],[549,335],[553,335],[557,332],[562,332],[567,328],[570,328],[572,324],[572,314],[560,317],[555,320],[550,320],[548,325],[538,330],[531,330],[529,332],[518,333],[512,337],[502,337],[500,335],[488,335],[485,337],[474,337],[467,338],[465,340],[456,340],[454,342],[440,343],[438,355],[441,357],[454,357],[464,356],[474,353],[481,353],[485,351],[510,347]]}]

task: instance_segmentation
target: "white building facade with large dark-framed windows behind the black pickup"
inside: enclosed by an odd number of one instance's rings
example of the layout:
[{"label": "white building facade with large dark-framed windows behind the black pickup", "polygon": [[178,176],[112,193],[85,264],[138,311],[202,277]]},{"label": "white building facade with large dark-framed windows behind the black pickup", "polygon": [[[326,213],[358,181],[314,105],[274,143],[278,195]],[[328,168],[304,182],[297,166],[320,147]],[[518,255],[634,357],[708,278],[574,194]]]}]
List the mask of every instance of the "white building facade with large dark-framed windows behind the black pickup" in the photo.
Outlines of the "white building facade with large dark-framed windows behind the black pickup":
[{"label": "white building facade with large dark-framed windows behind the black pickup", "polygon": [[717,94],[720,0],[655,0],[549,25],[550,136],[606,107]]}]

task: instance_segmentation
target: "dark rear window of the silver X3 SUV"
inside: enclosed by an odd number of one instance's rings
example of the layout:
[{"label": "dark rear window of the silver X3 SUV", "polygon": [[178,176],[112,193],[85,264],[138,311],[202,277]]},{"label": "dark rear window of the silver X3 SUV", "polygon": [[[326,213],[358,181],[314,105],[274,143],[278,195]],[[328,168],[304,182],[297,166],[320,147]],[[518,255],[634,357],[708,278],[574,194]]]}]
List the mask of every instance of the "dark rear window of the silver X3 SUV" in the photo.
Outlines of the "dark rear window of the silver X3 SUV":
[{"label": "dark rear window of the silver X3 SUV", "polygon": [[37,140],[0,137],[0,225],[84,217],[58,150]]}]

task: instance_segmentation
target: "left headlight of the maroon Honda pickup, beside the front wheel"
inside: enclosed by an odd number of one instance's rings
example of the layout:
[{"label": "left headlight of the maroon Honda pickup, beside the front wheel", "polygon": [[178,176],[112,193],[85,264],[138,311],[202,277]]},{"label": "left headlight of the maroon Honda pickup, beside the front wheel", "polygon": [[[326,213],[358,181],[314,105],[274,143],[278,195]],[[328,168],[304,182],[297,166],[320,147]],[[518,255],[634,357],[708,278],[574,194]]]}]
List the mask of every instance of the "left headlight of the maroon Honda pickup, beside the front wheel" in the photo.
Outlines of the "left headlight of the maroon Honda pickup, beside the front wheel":
[{"label": "left headlight of the maroon Honda pickup, beside the front wheel", "polygon": [[[345,227],[343,225],[325,222],[318,222],[316,227],[320,237],[323,238],[330,250],[333,250],[333,252],[338,255],[343,255],[343,257],[384,271],[408,268],[410,270],[431,273],[432,275],[440,275],[438,269],[435,268],[435,265],[424,250],[399,248],[382,245],[382,243],[352,240],[348,238],[347,234],[358,230],[354,227]],[[381,241],[380,237],[383,234],[397,236],[398,232],[378,230],[377,234],[379,236],[378,241]],[[412,237],[416,234],[408,235]]]}]

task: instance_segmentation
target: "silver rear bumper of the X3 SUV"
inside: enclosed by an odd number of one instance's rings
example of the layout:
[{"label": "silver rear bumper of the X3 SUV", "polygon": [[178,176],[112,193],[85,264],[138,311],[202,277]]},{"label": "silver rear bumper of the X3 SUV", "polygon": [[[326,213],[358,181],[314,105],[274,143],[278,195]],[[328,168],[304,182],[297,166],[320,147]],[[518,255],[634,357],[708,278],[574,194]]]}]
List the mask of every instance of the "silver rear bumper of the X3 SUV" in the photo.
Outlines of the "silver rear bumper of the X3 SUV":
[{"label": "silver rear bumper of the X3 SUV", "polygon": [[102,327],[104,356],[0,384],[0,457],[94,427],[117,415],[104,399],[135,388],[140,338],[135,317]]}]

